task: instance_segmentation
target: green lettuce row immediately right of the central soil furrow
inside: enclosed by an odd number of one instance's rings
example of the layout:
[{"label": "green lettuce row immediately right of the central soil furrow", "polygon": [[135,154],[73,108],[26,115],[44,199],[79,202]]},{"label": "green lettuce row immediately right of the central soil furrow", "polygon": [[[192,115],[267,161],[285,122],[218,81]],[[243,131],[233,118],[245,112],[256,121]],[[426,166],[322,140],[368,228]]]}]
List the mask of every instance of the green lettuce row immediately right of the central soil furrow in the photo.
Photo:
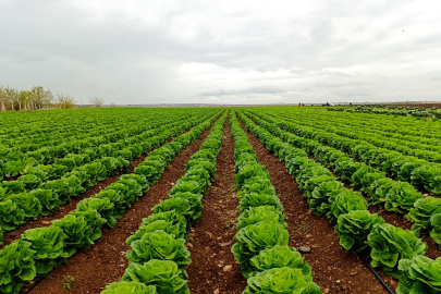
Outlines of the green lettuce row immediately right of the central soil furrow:
[{"label": "green lettuce row immediately right of the central soil furrow", "polygon": [[287,246],[283,206],[235,113],[231,127],[241,213],[237,242],[231,250],[247,279],[244,293],[321,293],[313,282],[309,265],[295,248]]}]

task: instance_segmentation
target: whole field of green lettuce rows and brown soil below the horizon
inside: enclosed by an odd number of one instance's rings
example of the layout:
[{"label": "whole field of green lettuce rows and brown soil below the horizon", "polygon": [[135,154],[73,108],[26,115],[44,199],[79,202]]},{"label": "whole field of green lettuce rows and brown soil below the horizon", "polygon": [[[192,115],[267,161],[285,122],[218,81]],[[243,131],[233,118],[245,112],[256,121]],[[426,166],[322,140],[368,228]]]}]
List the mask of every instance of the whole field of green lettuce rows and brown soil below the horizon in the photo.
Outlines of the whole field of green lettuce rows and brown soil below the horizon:
[{"label": "whole field of green lettuce rows and brown soil below the horizon", "polygon": [[441,293],[436,109],[0,119],[0,293]]}]

